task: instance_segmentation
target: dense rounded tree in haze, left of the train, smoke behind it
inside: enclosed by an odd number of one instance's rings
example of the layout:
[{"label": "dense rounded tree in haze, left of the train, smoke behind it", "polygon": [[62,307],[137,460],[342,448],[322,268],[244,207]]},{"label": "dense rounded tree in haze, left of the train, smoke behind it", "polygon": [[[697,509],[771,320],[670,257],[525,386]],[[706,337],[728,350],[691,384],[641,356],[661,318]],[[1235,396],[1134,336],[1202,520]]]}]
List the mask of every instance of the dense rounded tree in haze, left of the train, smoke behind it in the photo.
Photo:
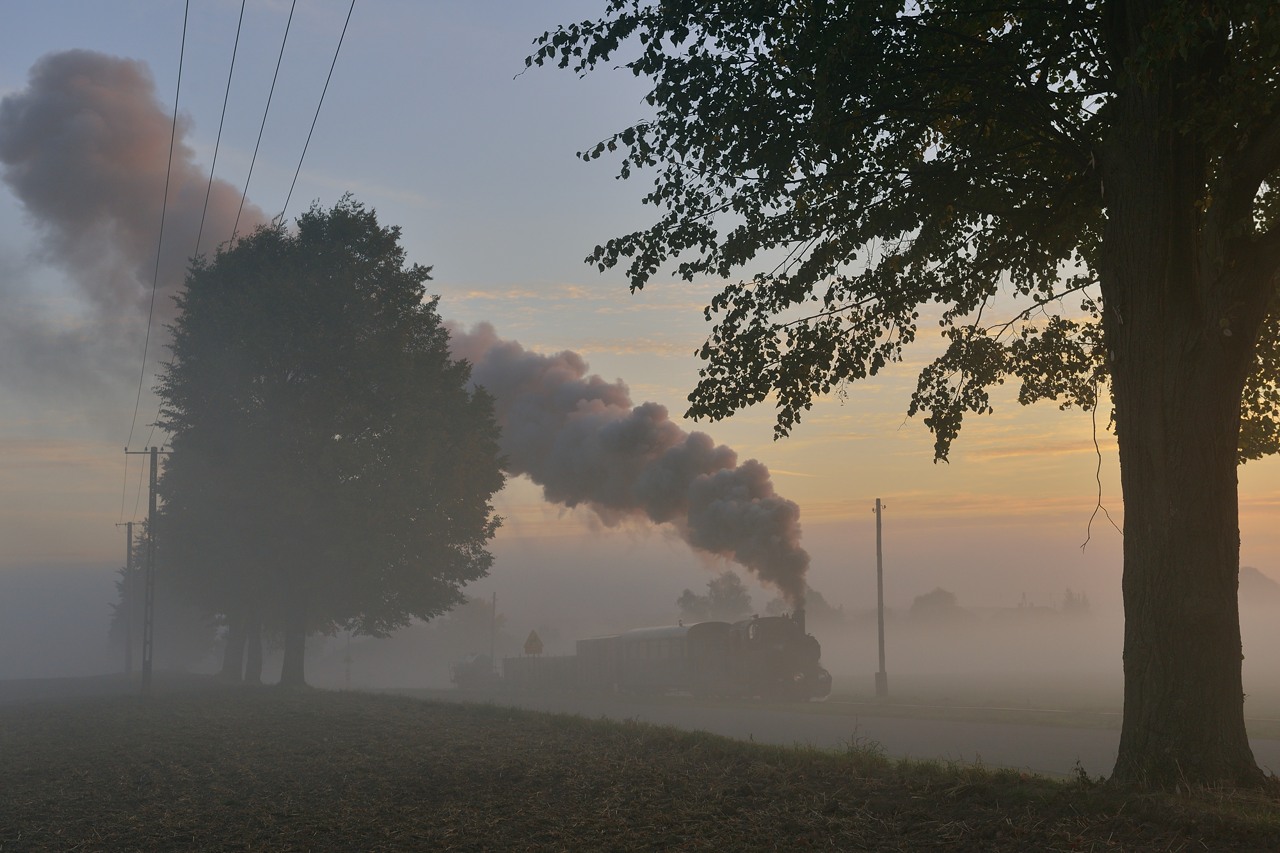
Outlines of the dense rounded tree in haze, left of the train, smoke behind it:
[{"label": "dense rounded tree in haze, left of the train, smoke behind it", "polygon": [[159,387],[163,530],[229,622],[233,676],[260,626],[302,684],[308,633],[385,635],[489,569],[493,406],[449,357],[429,278],[349,197],[192,265]]}]

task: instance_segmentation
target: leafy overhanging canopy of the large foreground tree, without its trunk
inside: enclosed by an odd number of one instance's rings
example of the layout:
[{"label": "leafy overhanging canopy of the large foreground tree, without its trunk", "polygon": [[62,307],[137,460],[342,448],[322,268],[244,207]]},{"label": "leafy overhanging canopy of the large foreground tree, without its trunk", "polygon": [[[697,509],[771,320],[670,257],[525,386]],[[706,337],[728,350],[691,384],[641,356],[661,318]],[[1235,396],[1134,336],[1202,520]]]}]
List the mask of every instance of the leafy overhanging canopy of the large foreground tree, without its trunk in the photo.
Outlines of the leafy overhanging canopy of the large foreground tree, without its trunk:
[{"label": "leafy overhanging canopy of the large foreground tree, without its trunk", "polygon": [[[1213,46],[1179,119],[1203,138],[1198,215],[1221,220],[1208,224],[1236,263],[1280,257],[1280,13],[1165,3],[1146,44],[1117,56],[1107,28],[1124,6],[611,0],[603,18],[544,33],[526,63],[622,61],[653,79],[653,117],[580,156],[620,151],[622,177],[657,170],[644,201],[658,219],[588,261],[625,265],[634,289],[668,264],[689,280],[759,268],[707,307],[691,416],[772,393],[786,435],[815,397],[901,361],[928,313],[947,347],[910,414],[945,460],[963,416],[989,411],[1006,379],[1023,403],[1097,405],[1101,147],[1125,74]],[[1247,174],[1224,168],[1234,160]],[[1025,305],[992,316],[1001,295]],[[1244,459],[1280,448],[1274,307],[1258,341]]]}]

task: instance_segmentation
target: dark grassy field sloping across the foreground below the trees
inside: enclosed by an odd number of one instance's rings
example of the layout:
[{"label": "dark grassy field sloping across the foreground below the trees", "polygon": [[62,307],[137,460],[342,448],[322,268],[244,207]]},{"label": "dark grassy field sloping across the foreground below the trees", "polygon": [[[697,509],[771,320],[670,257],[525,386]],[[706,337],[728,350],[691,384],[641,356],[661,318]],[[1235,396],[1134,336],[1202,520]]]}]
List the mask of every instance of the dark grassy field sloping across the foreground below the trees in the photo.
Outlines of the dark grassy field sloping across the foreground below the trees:
[{"label": "dark grassy field sloping across the foreground below the trees", "polygon": [[362,693],[0,707],[0,850],[1276,850],[1229,790]]}]

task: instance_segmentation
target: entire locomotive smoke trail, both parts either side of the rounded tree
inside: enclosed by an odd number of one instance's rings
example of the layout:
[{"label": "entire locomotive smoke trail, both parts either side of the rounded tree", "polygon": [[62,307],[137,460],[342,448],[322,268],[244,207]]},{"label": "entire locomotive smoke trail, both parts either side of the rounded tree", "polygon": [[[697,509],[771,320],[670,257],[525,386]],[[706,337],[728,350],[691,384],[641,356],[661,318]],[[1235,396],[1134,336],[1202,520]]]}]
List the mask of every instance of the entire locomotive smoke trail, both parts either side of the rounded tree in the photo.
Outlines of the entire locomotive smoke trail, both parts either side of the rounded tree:
[{"label": "entire locomotive smoke trail, both parts either side of the rounded tree", "polygon": [[[82,50],[42,58],[28,87],[0,101],[4,182],[40,228],[46,260],[70,273],[88,327],[67,327],[50,309],[0,313],[6,380],[23,359],[38,361],[37,380],[64,388],[84,384],[91,365],[115,375],[129,375],[120,370],[129,362],[137,369],[170,122],[142,63]],[[161,321],[173,314],[170,297],[196,251],[209,181],[183,143],[186,129],[179,120],[156,298]],[[230,237],[239,202],[238,191],[214,182],[202,251]],[[246,206],[239,232],[264,219]],[[0,288],[22,278],[0,277]],[[0,289],[9,306],[38,305],[36,296]],[[728,447],[684,432],[663,406],[632,405],[626,386],[588,375],[573,352],[527,352],[489,325],[452,334],[454,356],[474,365],[475,382],[495,398],[512,474],[607,525],[671,525],[695,549],[733,560],[801,602],[809,556],[799,544],[800,510],[774,493],[764,465],[739,464]],[[110,342],[123,343],[101,350]]]}]

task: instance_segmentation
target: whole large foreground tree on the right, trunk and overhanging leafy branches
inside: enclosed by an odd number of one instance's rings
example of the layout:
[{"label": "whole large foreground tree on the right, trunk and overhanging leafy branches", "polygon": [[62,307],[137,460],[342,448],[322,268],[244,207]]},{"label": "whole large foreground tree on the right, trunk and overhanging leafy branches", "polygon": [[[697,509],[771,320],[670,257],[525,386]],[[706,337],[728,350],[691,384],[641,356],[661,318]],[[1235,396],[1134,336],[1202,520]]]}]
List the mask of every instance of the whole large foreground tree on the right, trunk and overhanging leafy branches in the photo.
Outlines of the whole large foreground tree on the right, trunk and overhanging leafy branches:
[{"label": "whole large foreground tree on the right, trunk and overhanging leafy branches", "polygon": [[785,435],[814,397],[900,361],[933,305],[947,346],[909,411],[938,460],[995,384],[1094,409],[1110,383],[1128,615],[1115,776],[1262,784],[1235,466],[1280,434],[1275,4],[604,8],[526,60],[653,81],[652,118],[582,156],[657,169],[658,222],[589,260],[623,264],[632,288],[667,263],[690,280],[760,264],[705,311],[690,414],[771,400]]}]

